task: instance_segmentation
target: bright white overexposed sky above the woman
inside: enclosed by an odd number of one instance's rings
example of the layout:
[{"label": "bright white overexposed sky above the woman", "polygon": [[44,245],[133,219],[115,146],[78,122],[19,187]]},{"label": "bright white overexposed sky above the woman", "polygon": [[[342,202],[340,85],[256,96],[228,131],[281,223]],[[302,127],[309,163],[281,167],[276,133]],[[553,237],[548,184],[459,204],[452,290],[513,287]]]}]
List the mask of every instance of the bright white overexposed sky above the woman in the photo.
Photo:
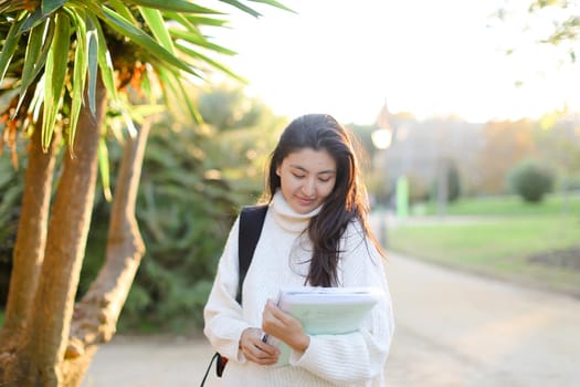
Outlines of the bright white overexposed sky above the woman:
[{"label": "bright white overexposed sky above the woman", "polygon": [[420,119],[470,122],[580,111],[580,65],[534,44],[521,19],[493,19],[506,0],[280,1],[296,13],[233,13],[232,29],[214,34],[239,53],[222,62],[276,114],[370,125],[386,103]]}]

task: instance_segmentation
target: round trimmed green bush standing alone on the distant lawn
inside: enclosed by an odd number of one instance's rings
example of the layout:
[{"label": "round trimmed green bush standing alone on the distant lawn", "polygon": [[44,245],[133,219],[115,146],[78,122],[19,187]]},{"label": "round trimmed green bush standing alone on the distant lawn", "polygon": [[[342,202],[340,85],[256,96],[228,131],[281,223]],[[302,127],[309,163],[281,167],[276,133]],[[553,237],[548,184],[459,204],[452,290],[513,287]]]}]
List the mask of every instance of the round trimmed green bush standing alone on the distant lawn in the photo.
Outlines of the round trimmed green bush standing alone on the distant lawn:
[{"label": "round trimmed green bush standing alone on the distant lawn", "polygon": [[553,188],[553,172],[538,160],[518,163],[508,174],[508,188],[527,202],[540,202]]}]

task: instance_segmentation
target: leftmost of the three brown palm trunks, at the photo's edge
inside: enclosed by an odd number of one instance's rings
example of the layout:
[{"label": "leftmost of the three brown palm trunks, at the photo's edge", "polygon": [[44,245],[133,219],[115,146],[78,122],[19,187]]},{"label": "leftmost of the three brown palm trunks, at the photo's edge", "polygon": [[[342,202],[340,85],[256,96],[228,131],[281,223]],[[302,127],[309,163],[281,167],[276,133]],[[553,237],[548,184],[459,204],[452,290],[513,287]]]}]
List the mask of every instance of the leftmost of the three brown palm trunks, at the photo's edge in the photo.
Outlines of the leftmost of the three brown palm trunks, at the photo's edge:
[{"label": "leftmost of the three brown palm trunks, at the photo's edge", "polygon": [[42,151],[40,128],[34,129],[29,144],[27,177],[13,251],[6,320],[0,330],[0,381],[2,380],[2,369],[13,358],[14,351],[21,342],[21,335],[24,332],[36,290],[40,268],[44,259],[56,144],[60,133],[55,132],[54,135],[55,137],[53,137],[45,154]]}]

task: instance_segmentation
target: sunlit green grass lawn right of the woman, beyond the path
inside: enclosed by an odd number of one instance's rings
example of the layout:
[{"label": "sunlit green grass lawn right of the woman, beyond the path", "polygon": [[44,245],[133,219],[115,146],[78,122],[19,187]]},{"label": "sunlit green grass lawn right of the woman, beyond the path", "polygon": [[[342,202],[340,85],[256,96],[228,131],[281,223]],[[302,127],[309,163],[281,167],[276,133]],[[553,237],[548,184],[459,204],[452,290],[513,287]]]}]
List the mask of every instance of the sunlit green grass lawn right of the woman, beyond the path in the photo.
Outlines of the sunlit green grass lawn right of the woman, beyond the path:
[{"label": "sunlit green grass lawn right of the woman, beyond the path", "polygon": [[[535,207],[517,198],[465,200],[449,208],[447,213],[458,216],[460,221],[407,222],[389,231],[389,248],[419,259],[580,296],[580,257],[576,257],[576,269],[562,266],[553,259],[540,262],[529,259],[580,248],[580,199],[570,200],[568,206],[571,210],[562,213],[558,198]],[[462,222],[461,216],[470,216],[468,221]]]}]

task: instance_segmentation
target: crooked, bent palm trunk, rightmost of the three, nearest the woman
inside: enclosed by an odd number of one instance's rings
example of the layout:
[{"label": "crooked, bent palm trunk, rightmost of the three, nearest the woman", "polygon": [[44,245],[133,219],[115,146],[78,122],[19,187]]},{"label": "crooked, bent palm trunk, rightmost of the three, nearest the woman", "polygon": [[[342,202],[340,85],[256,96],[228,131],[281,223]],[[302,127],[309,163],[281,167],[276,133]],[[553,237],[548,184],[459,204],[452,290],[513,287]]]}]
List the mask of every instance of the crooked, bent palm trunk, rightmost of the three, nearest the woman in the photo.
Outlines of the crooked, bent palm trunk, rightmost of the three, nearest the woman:
[{"label": "crooked, bent palm trunk, rightmost of the three, nearest the woman", "polygon": [[80,386],[98,344],[108,342],[145,253],[135,219],[145,145],[149,123],[136,138],[128,138],[120,165],[110,213],[106,261],[97,279],[75,306],[71,339],[63,368],[64,386]]}]

